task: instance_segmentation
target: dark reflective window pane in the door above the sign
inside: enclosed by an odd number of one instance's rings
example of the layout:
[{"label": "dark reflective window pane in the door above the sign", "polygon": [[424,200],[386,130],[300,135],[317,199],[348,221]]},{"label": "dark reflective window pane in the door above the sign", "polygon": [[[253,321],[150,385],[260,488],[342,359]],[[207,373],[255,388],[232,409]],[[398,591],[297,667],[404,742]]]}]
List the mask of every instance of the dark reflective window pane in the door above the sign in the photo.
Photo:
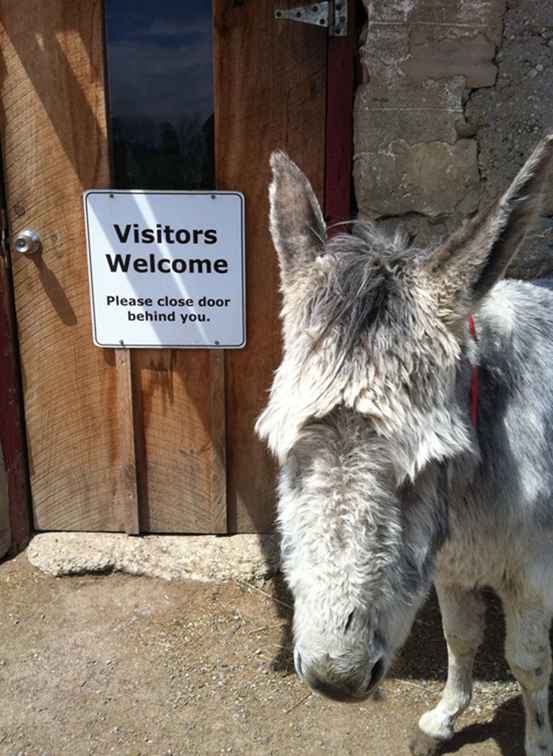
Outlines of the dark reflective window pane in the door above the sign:
[{"label": "dark reflective window pane in the door above the sign", "polygon": [[105,8],[115,188],[214,188],[211,0]]}]

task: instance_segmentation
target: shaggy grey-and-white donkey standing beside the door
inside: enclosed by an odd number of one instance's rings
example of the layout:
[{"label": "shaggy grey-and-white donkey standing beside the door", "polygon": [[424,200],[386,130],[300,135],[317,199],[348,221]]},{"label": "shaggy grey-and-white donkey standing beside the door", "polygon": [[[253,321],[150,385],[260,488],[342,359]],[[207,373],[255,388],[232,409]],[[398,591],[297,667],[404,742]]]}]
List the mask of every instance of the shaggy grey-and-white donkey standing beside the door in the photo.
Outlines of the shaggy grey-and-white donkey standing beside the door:
[{"label": "shaggy grey-and-white donkey standing beside the door", "polygon": [[433,581],[449,669],[413,754],[442,747],[469,705],[483,586],[503,603],[526,756],[553,754],[553,290],[500,281],[552,154],[553,134],[432,250],[361,223],[326,239],[306,177],[271,158],[284,352],[256,430],[280,464],[294,664],[330,698],[364,699]]}]

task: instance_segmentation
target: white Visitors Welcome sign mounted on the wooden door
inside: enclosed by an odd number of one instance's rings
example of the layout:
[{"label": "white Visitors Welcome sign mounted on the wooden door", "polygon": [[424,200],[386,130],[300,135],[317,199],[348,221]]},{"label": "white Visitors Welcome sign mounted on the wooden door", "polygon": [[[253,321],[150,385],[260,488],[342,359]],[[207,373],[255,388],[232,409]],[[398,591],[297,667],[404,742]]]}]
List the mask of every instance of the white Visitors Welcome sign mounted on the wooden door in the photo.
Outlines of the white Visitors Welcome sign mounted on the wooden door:
[{"label": "white Visitors Welcome sign mounted on the wooden door", "polygon": [[244,346],[242,194],[92,189],[84,206],[97,346]]}]

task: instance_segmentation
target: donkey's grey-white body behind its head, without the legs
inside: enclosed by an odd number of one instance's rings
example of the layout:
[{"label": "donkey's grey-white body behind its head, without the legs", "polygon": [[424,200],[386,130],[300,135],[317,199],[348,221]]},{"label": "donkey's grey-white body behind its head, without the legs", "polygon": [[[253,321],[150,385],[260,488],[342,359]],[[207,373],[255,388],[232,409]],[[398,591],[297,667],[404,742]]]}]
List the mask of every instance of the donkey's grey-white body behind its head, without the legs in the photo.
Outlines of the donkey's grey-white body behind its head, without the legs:
[{"label": "donkey's grey-white body behind its head, without the legs", "polygon": [[463,459],[449,463],[449,538],[440,558],[467,580],[493,585],[494,565],[509,563],[512,571],[553,534],[550,286],[497,284],[478,311],[478,341],[467,339],[458,394],[467,407],[470,371],[478,365],[478,461],[472,468]]}]

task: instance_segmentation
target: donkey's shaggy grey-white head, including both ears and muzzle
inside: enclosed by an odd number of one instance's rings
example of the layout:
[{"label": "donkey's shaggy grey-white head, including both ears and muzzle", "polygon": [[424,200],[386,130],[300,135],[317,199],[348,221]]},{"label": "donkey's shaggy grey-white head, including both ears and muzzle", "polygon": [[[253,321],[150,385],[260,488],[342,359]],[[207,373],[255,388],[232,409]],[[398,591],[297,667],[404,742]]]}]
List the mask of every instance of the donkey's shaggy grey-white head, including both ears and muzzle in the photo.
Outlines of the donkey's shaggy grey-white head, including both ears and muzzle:
[{"label": "donkey's shaggy grey-white head, including both ears and muzzle", "polygon": [[272,156],[284,357],[257,432],[281,465],[296,669],[331,697],[373,690],[429,588],[446,467],[477,457],[466,320],[538,211],[552,151],[549,137],[487,217],[435,250],[361,224],[326,240],[309,182]]}]

